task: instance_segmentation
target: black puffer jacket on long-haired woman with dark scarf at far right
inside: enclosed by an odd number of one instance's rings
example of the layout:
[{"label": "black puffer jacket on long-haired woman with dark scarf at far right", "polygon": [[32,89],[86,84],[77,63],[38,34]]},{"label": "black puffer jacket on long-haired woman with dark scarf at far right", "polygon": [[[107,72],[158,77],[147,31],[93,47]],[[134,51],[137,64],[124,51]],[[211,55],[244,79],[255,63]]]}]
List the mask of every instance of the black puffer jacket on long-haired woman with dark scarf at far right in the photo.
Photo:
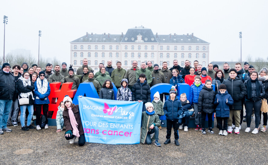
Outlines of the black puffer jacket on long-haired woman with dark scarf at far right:
[{"label": "black puffer jacket on long-haired woman with dark scarf at far right", "polygon": [[[246,90],[250,90],[247,88],[246,84],[248,81],[250,81],[251,79],[248,79],[247,81],[245,81],[245,87],[246,87]],[[246,100],[250,100],[250,101],[259,101],[263,98],[263,96],[265,95],[265,90],[264,90],[264,87],[263,87],[263,83],[261,81],[260,82],[260,91],[256,91],[256,83],[257,82],[251,82],[251,98],[249,99],[248,98],[248,95],[246,94]],[[258,97],[257,96],[257,93],[260,92],[260,96]]]}]

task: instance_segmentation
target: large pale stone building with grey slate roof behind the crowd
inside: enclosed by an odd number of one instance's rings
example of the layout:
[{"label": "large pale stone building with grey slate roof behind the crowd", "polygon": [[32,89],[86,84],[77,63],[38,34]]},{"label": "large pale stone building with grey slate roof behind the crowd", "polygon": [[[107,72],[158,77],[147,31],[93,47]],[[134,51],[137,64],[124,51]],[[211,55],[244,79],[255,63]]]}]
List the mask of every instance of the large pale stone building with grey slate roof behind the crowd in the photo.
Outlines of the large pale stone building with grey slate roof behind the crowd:
[{"label": "large pale stone building with grey slate roof behind the crowd", "polygon": [[111,34],[88,34],[70,42],[71,64],[74,71],[82,66],[84,58],[88,58],[88,65],[98,71],[98,64],[112,60],[112,66],[121,61],[122,67],[131,68],[133,60],[141,62],[152,61],[159,64],[167,61],[168,68],[173,66],[173,60],[177,59],[179,65],[184,67],[184,61],[189,60],[192,64],[198,60],[206,66],[209,63],[210,43],[194,36],[187,35],[154,35],[151,29],[135,27],[127,30],[124,35]]}]

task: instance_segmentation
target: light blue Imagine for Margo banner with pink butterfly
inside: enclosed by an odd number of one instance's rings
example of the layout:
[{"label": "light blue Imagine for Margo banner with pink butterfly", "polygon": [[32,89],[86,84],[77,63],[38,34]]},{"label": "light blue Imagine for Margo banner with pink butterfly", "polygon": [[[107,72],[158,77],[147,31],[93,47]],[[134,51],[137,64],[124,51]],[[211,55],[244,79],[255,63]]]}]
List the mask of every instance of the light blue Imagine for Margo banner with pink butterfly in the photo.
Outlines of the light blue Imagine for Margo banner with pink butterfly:
[{"label": "light blue Imagine for Margo banner with pink butterfly", "polygon": [[86,142],[139,144],[142,102],[78,98]]}]

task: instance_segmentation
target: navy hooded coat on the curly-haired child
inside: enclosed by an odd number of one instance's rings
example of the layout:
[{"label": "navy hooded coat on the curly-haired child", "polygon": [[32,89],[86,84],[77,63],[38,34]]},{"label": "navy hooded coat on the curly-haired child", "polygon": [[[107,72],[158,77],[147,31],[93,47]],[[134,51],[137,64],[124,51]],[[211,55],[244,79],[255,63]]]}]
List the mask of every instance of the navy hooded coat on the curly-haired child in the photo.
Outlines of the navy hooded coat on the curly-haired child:
[{"label": "navy hooded coat on the curly-haired child", "polygon": [[[227,99],[228,102],[226,103]],[[225,93],[223,94],[219,92],[215,96],[214,105],[217,105],[216,117],[229,117],[230,114],[229,106],[233,105],[233,99],[231,95],[228,94],[227,91],[225,91]]]}]

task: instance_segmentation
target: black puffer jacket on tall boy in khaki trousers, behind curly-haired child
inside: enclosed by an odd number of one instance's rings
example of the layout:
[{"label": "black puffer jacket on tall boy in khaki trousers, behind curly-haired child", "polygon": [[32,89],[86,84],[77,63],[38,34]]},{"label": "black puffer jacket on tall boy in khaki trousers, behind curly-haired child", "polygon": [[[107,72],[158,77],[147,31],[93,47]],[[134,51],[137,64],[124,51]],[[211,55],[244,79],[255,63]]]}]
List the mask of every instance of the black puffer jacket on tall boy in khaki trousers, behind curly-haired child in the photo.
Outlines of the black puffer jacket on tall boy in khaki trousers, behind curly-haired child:
[{"label": "black puffer jacket on tall boy in khaki trousers, behind curly-haired child", "polygon": [[240,78],[236,77],[234,80],[230,77],[223,81],[226,85],[228,93],[233,98],[233,105],[230,106],[230,110],[241,110],[241,100],[246,96],[246,87]]}]

